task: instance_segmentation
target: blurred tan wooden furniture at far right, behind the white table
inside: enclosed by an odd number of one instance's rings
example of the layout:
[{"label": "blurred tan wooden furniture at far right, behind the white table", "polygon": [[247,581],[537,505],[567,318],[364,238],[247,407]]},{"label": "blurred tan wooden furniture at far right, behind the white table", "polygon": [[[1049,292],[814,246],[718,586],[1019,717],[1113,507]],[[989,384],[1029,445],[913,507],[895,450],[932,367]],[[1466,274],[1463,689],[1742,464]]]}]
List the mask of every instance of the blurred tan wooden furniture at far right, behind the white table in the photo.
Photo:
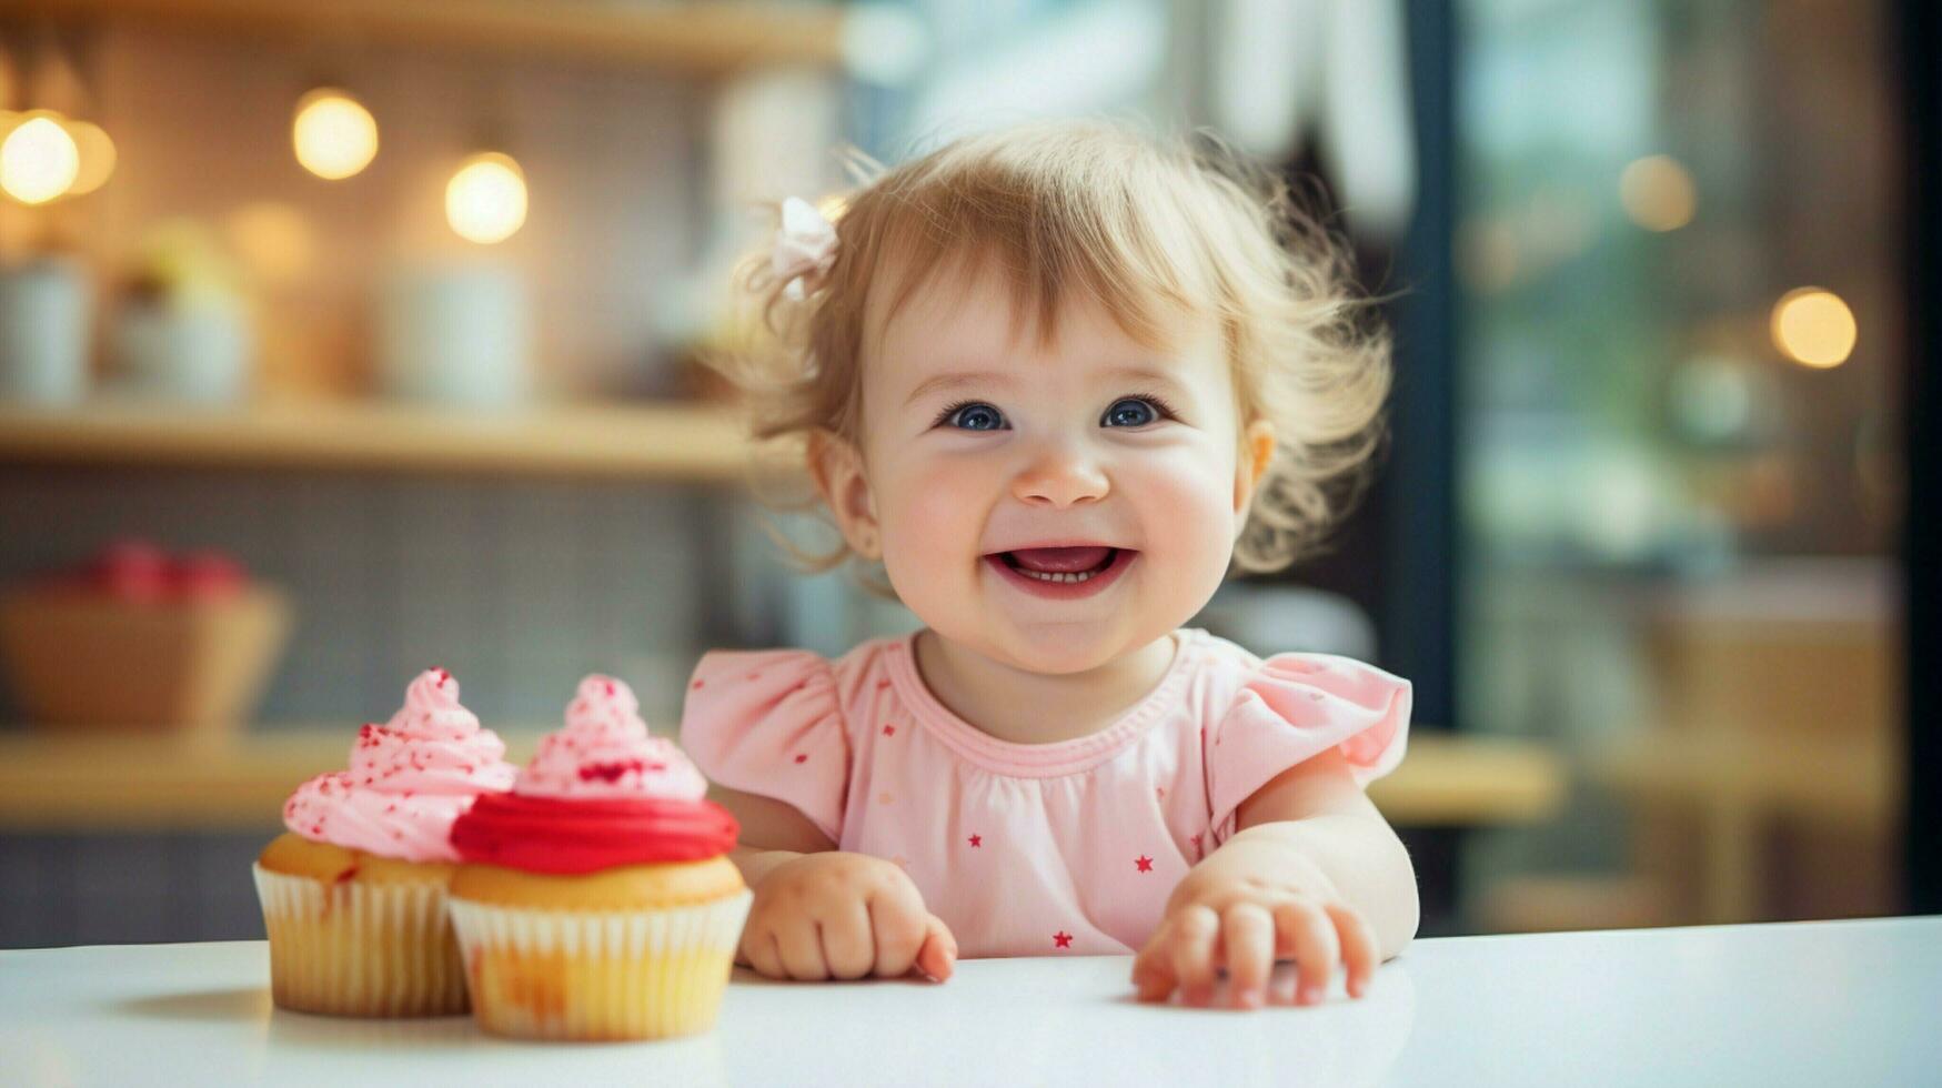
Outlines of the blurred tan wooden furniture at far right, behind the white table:
[{"label": "blurred tan wooden furniture at far right, behind the white table", "polygon": [[1575,758],[1624,804],[1629,867],[1499,880],[1482,927],[1892,913],[1890,581],[1878,560],[1767,560],[1641,600],[1657,711]]}]

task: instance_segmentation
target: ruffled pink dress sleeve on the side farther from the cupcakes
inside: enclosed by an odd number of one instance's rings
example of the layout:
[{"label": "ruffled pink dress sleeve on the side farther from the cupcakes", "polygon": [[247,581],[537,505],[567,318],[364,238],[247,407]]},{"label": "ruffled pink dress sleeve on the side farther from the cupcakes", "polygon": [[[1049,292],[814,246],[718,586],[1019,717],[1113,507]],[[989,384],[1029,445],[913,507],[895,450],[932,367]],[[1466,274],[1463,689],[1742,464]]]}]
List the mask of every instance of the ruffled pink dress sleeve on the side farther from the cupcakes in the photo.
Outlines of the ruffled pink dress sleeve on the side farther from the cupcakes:
[{"label": "ruffled pink dress sleeve on the side farther from the cupcakes", "polygon": [[1235,808],[1276,775],[1340,748],[1367,785],[1402,762],[1410,682],[1324,653],[1278,653],[1260,663],[1206,738],[1214,841],[1233,833]]}]

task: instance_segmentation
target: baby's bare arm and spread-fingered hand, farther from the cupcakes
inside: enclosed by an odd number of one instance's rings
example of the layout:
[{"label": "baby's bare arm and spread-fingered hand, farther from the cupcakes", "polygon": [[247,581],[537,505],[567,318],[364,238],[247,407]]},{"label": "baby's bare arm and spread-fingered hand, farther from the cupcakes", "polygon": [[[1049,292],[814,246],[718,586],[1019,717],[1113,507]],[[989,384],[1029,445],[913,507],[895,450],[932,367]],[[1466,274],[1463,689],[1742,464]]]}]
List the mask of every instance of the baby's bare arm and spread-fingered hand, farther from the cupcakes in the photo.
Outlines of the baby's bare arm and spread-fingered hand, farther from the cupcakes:
[{"label": "baby's bare arm and spread-fingered hand, farther from the cupcakes", "polygon": [[1173,890],[1134,960],[1142,1001],[1175,989],[1208,1004],[1227,969],[1237,1006],[1266,1001],[1276,960],[1295,960],[1295,1001],[1323,1001],[1336,964],[1361,997],[1379,960],[1416,936],[1416,872],[1340,752],[1289,767],[1237,810],[1239,830]]}]

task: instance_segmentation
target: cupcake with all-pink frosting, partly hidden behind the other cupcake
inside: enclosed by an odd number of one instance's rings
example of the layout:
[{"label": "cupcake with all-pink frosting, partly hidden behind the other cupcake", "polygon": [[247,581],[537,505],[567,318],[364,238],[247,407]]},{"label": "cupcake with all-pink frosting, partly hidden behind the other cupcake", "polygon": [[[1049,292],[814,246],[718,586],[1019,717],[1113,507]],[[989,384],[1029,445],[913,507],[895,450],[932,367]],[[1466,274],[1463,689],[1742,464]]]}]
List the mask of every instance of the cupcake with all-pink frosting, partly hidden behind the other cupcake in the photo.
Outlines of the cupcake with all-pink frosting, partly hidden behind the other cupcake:
[{"label": "cupcake with all-pink frosting, partly hidden behind the other cupcake", "polygon": [[445,911],[458,868],[452,822],[519,767],[458,703],[443,668],[412,680],[386,725],[365,725],[350,769],[297,787],[256,859],[276,1004],[332,1016],[466,1010]]}]

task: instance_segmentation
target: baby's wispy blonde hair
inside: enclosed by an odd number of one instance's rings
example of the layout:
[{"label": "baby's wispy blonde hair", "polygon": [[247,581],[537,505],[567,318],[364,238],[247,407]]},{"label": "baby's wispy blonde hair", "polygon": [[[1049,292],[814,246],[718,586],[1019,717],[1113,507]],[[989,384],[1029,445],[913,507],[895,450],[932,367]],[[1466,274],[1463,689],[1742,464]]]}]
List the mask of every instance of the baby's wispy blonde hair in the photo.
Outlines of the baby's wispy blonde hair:
[{"label": "baby's wispy blonde hair", "polygon": [[[1035,315],[1047,340],[1076,291],[1150,348],[1165,336],[1165,309],[1218,317],[1239,431],[1268,420],[1276,433],[1235,544],[1239,569],[1309,554],[1359,495],[1383,439],[1389,336],[1365,319],[1346,249],[1280,177],[1216,140],[1039,122],[880,171],[839,206],[827,272],[792,288],[763,253],[738,276],[765,336],[709,365],[746,394],[753,437],[827,429],[858,441],[866,321],[886,323],[944,266],[990,262],[1014,313]],[[887,291],[878,309],[874,291]],[[806,569],[849,558],[843,544],[790,552]]]}]

